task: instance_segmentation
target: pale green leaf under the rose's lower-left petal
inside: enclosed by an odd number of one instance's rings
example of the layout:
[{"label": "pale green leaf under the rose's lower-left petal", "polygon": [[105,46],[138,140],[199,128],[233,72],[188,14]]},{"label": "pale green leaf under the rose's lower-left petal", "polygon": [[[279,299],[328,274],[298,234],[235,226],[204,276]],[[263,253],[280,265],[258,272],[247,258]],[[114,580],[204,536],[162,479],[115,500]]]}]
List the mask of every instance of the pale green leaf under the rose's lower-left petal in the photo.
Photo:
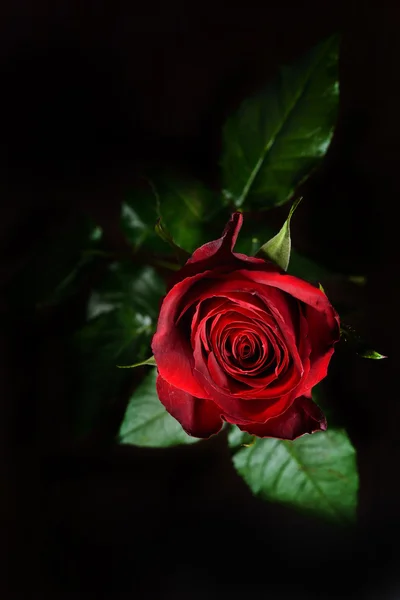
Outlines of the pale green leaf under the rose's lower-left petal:
[{"label": "pale green leaf under the rose's lower-left petal", "polygon": [[164,408],[156,392],[157,372],[152,369],[133,393],[118,441],[121,444],[165,448],[178,444],[193,444],[197,438],[189,436]]}]

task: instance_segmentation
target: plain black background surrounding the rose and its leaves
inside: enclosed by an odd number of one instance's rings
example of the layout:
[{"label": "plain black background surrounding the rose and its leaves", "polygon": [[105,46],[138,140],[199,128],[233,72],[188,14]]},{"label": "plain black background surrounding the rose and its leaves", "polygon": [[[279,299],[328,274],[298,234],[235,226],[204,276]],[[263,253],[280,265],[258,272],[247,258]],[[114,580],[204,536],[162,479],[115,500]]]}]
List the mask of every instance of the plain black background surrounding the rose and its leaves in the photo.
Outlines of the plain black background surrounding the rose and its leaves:
[{"label": "plain black background surrounding the rose and its leaves", "polygon": [[[26,1],[0,10],[2,597],[395,598],[396,3]],[[68,362],[58,327],[35,327],[7,295],[41,236],[74,215],[89,212],[116,235],[119,202],[143,164],[177,163],[217,185],[224,116],[336,30],[337,135],[294,238],[336,270],[367,274],[353,322],[389,355],[372,363],[339,351],[332,364],[331,396],[359,456],[355,533],[253,498],[223,437],[165,451],[61,451]]]}]

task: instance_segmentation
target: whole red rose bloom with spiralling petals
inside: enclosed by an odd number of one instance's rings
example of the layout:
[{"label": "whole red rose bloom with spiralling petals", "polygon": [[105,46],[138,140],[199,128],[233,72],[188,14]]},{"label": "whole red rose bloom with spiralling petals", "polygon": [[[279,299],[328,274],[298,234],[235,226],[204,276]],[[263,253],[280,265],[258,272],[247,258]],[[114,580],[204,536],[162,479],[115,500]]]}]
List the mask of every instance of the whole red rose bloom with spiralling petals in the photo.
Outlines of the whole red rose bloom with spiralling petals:
[{"label": "whole red rose bloom with spiralling petals", "polygon": [[190,435],[227,421],[293,440],[326,429],[311,389],[326,376],[339,317],[310,283],[233,252],[241,225],[233,214],[176,274],[152,341],[157,393]]}]

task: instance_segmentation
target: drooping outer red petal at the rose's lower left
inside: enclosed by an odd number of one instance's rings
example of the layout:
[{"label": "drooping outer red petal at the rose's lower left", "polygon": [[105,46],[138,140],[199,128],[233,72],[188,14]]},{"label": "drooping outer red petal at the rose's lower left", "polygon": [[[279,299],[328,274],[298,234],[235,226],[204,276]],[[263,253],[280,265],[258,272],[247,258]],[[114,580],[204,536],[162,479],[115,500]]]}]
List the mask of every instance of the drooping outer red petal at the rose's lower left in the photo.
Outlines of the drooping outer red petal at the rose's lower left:
[{"label": "drooping outer red petal at the rose's lower left", "polygon": [[221,409],[203,398],[195,398],[157,377],[157,394],[167,411],[189,435],[208,438],[222,427]]}]

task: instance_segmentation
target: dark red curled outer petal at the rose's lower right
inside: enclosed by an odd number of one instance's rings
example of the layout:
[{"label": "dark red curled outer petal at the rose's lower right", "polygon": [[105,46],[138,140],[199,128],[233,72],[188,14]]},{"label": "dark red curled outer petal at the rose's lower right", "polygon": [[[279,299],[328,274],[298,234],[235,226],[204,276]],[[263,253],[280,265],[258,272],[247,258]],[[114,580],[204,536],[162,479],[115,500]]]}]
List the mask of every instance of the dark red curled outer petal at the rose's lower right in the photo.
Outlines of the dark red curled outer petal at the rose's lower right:
[{"label": "dark red curled outer petal at the rose's lower right", "polygon": [[239,425],[239,429],[257,437],[295,440],[305,433],[325,431],[326,418],[318,406],[306,396],[300,396],[279,417],[266,423]]}]

